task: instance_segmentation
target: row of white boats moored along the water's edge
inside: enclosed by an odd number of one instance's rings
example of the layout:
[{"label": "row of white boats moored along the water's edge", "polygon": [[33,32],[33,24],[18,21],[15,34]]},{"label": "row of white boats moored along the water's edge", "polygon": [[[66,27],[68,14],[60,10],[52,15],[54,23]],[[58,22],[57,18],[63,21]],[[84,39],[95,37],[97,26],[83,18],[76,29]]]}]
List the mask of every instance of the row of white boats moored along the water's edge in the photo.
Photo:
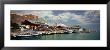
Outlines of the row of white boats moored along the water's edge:
[{"label": "row of white boats moored along the water's edge", "polygon": [[90,33],[90,32],[83,32],[79,29],[79,31],[73,30],[60,30],[60,31],[35,31],[35,30],[22,30],[18,33],[11,33],[11,36],[39,36],[39,35],[53,35],[53,34],[74,34],[74,33]]}]

